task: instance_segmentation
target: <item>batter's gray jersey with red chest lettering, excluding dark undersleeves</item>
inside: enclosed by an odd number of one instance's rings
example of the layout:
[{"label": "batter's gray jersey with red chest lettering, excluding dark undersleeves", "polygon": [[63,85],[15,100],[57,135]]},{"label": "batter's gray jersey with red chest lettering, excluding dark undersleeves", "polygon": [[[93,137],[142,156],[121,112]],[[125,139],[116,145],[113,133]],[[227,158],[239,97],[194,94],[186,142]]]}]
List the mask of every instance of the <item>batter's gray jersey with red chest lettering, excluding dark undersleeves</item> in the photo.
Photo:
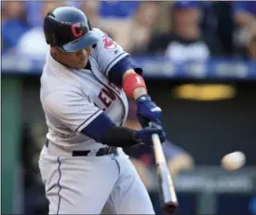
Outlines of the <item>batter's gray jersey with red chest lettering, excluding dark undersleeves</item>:
[{"label": "batter's gray jersey with red chest lettering, excluding dark undersleeves", "polygon": [[128,53],[99,29],[101,42],[89,56],[91,70],[69,69],[47,55],[41,77],[41,102],[47,118],[47,139],[64,147],[93,149],[102,147],[80,133],[83,128],[105,112],[117,126],[128,114],[124,91],[110,83],[108,72]]}]

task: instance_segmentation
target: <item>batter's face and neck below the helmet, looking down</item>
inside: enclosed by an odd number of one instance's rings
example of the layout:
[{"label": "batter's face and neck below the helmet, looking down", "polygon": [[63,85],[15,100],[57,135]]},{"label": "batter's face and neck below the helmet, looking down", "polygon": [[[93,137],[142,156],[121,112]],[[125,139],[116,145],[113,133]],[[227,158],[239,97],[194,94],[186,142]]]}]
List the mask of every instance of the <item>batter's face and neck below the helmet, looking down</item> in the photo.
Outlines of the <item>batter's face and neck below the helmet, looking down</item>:
[{"label": "batter's face and neck below the helmet, looking down", "polygon": [[64,65],[74,69],[84,69],[88,64],[88,56],[91,50],[92,47],[87,47],[76,52],[68,53],[56,48],[54,52],[56,54],[57,60],[59,60]]}]

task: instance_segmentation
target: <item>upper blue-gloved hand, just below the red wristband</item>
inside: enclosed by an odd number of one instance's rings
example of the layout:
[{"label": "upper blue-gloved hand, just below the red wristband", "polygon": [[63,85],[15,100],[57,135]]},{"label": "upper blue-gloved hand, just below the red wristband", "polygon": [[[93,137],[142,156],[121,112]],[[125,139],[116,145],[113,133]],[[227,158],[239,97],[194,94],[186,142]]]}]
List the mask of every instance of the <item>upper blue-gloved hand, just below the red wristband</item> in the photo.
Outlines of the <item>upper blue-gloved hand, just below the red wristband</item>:
[{"label": "upper blue-gloved hand, just below the red wristband", "polygon": [[136,103],[138,106],[137,116],[142,128],[148,127],[150,122],[161,126],[162,110],[148,95],[141,95]]}]

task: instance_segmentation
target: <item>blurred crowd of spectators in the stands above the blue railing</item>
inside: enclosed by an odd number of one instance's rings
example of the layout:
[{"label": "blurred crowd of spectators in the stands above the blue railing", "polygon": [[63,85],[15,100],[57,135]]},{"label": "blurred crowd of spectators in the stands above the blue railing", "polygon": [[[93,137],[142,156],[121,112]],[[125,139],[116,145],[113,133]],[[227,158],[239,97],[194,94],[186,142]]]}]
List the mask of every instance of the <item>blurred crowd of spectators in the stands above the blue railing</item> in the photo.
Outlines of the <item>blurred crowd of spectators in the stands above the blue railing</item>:
[{"label": "blurred crowd of spectators in the stands above the blue railing", "polygon": [[132,55],[170,60],[256,58],[256,2],[244,1],[5,1],[2,52],[42,58],[42,23],[61,5],[79,7]]}]

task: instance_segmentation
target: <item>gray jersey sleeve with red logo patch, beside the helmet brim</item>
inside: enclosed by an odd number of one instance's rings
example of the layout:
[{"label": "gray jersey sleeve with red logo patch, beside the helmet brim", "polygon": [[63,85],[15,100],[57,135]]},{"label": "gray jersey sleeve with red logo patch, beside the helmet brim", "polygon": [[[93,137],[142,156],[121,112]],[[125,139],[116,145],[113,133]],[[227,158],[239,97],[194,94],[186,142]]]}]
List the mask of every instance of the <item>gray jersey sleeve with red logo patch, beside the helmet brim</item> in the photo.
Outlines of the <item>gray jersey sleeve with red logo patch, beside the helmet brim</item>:
[{"label": "gray jersey sleeve with red logo patch, beside the helmet brim", "polygon": [[103,33],[100,29],[94,29],[101,34],[101,41],[95,47],[94,57],[100,66],[101,73],[108,76],[113,66],[128,53],[120,47],[108,34]]}]

